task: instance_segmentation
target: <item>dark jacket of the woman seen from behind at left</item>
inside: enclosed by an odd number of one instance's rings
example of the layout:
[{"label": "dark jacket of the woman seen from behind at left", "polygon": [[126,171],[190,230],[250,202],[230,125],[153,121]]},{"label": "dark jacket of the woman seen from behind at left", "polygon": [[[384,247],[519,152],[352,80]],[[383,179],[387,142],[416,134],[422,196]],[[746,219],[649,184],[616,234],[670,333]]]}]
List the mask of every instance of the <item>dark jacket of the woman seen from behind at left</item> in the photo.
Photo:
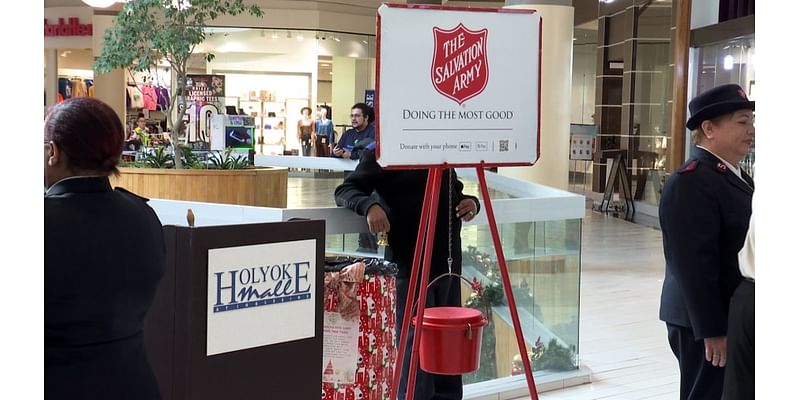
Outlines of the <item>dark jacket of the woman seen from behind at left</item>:
[{"label": "dark jacket of the woman seen from behind at left", "polygon": [[157,399],[143,325],[166,268],[146,199],[106,177],[68,178],[44,200],[48,399]]}]

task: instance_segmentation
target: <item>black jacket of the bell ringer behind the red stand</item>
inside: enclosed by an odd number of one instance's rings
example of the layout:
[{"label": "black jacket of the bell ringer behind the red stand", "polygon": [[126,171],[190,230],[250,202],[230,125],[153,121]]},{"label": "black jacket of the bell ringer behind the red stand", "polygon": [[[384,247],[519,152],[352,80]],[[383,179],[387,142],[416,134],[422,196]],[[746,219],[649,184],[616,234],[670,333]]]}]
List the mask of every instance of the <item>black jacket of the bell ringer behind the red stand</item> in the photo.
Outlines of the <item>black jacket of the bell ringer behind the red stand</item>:
[{"label": "black jacket of the bell ringer behind the red stand", "polygon": [[[448,193],[451,170],[444,171],[440,187],[439,207],[436,218],[436,234],[434,236],[431,277],[447,272],[448,257]],[[452,199],[452,250],[453,272],[461,273],[461,220],[456,217],[455,207],[465,198],[472,198],[480,207],[474,196],[463,194],[464,185],[458,180],[453,170]],[[389,246],[386,248],[386,259],[398,264],[398,277],[408,277],[414,258],[419,220],[422,213],[422,202],[425,196],[425,184],[428,170],[384,170],[375,161],[375,153],[365,151],[356,170],[348,175],[344,182],[336,188],[336,204],[345,206],[358,215],[367,215],[373,204],[380,204],[389,217]],[[372,195],[373,190],[379,195]],[[421,269],[420,269],[421,270]]]}]

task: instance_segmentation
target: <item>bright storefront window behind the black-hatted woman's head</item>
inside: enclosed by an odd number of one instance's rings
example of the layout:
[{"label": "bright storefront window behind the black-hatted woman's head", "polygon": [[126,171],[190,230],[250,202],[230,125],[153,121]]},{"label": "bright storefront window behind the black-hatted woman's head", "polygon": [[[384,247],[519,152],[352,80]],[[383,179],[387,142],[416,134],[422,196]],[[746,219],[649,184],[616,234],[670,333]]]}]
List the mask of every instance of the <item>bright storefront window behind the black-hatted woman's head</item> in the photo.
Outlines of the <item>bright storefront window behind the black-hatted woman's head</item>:
[{"label": "bright storefront window behind the black-hatted woman's head", "polygon": [[[715,86],[736,83],[751,100],[756,98],[755,35],[714,43],[691,49],[689,98]],[[743,170],[753,174],[755,144],[740,163]]]}]

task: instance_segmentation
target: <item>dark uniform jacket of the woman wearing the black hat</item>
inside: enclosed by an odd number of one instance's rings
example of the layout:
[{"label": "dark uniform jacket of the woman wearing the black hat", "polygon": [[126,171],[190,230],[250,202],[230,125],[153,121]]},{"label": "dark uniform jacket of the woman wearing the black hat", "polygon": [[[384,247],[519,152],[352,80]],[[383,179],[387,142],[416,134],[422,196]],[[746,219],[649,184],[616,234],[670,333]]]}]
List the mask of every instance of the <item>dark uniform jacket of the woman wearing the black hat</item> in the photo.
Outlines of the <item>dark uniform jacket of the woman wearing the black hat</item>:
[{"label": "dark uniform jacket of the woman wearing the black hat", "polygon": [[666,276],[662,321],[691,328],[695,339],[725,336],[728,303],[742,280],[738,253],[747,234],[753,180],[695,147],[661,196]]}]

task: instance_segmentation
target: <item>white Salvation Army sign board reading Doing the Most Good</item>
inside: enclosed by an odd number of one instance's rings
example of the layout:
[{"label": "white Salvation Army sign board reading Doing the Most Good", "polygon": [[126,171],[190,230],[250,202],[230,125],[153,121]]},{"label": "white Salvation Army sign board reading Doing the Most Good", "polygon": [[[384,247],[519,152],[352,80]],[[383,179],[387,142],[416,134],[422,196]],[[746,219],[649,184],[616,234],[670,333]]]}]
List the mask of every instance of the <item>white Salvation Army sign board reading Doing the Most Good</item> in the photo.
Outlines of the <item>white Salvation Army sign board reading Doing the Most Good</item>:
[{"label": "white Salvation Army sign board reading Doing the Most Good", "polygon": [[539,156],[540,27],[533,10],[382,5],[378,162],[533,164]]}]

